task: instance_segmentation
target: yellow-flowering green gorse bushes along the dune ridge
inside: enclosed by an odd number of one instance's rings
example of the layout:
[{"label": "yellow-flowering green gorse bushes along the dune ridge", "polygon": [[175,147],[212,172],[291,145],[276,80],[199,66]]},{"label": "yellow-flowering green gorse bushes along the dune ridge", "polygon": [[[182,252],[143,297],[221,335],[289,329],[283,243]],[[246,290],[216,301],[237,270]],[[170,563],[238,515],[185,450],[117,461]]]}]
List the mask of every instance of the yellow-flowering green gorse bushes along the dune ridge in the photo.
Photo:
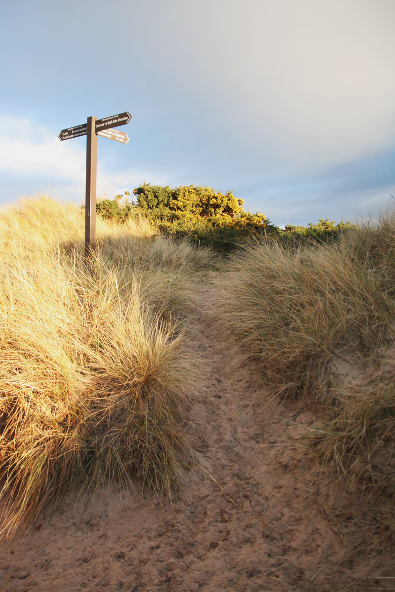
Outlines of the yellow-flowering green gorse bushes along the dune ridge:
[{"label": "yellow-flowering green gorse bushes along the dune ridge", "polygon": [[243,210],[244,201],[232,191],[223,194],[207,186],[169,186],[144,183],[130,194],[117,195],[114,200],[104,199],[97,204],[97,213],[105,220],[125,224],[136,215],[152,221],[166,236],[184,237],[199,246],[210,246],[220,253],[235,250],[251,241],[280,241],[284,246],[296,248],[307,243],[330,243],[355,227],[350,222],[320,218],[316,224],[293,226],[282,230],[262,213]]}]

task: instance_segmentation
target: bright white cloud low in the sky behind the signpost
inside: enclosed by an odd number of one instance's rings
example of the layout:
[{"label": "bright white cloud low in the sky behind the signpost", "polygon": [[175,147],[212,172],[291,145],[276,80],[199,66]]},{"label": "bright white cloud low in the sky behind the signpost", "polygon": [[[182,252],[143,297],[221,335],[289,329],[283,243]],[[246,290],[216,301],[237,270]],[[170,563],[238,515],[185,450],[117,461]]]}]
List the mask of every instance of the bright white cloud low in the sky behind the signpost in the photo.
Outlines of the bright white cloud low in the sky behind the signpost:
[{"label": "bright white cloud low in the sky behind the signpost", "polygon": [[[60,142],[53,133],[32,121],[0,117],[0,202],[12,202],[21,195],[49,192],[55,198],[76,202],[85,199],[85,146]],[[110,198],[133,191],[144,179],[166,184],[163,172],[149,168],[123,168],[112,173],[105,158],[98,159],[97,191]],[[14,192],[14,195],[11,195]]]}]

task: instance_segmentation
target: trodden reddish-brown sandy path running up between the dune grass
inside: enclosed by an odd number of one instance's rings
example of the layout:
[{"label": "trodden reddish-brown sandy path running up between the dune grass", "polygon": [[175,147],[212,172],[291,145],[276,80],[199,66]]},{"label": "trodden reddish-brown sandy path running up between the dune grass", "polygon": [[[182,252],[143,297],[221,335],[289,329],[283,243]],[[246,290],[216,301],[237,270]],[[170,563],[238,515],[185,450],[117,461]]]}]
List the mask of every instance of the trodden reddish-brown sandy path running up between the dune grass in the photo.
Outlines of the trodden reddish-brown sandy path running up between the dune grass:
[{"label": "trodden reddish-brown sandy path running up between the dune grass", "polygon": [[326,519],[312,487],[317,467],[287,445],[284,418],[309,414],[295,403],[265,405],[216,316],[213,278],[195,292],[201,387],[185,414],[195,463],[184,498],[161,506],[110,488],[89,504],[66,501],[40,518],[40,530],[0,543],[0,564],[9,565],[1,591],[394,589],[390,551],[358,559],[358,525],[339,531]]}]

